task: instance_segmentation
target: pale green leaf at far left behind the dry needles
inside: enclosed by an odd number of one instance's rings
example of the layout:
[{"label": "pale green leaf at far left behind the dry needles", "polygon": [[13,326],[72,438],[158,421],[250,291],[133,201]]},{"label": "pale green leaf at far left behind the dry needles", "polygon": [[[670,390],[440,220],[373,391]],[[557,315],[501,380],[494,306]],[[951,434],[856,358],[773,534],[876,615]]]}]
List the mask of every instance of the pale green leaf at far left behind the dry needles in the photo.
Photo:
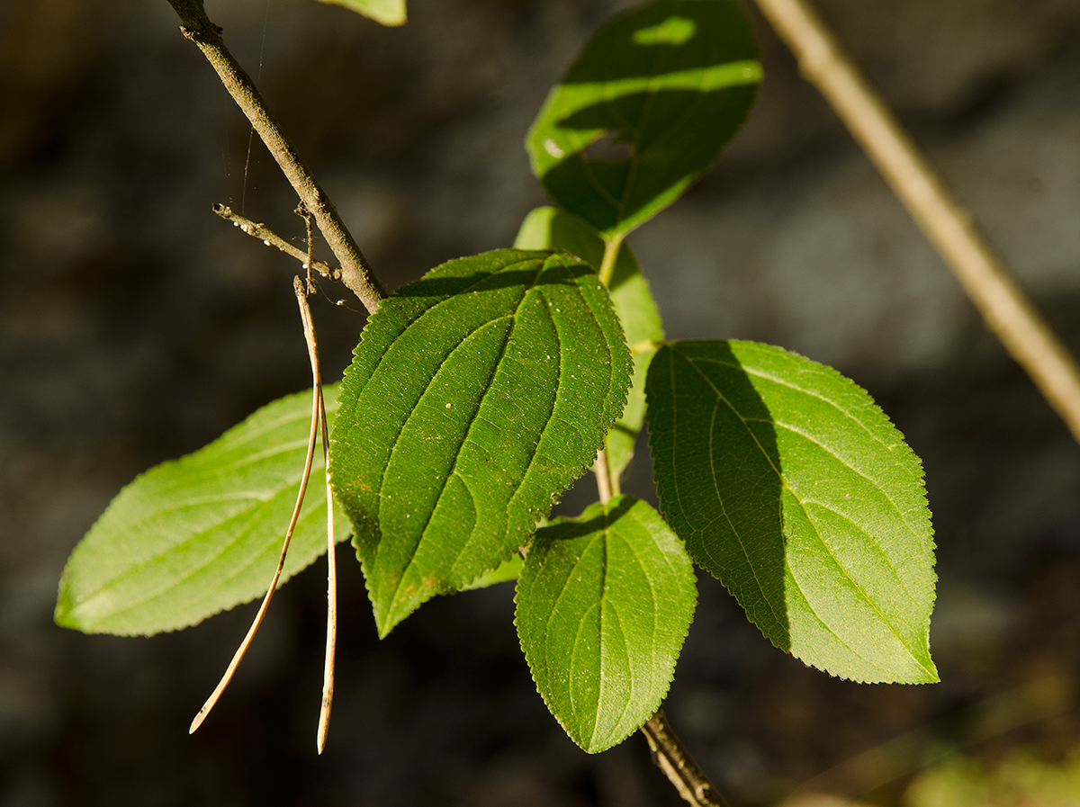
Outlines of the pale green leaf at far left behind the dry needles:
[{"label": "pale green leaf at far left behind the dry needles", "polygon": [[[333,422],[338,385],[324,387]],[[86,633],[176,630],[266,593],[303,471],[311,393],[269,404],[214,442],[124,488],[76,547],[55,619]],[[322,451],[282,572],[326,552]],[[336,508],[338,541],[349,525]]]}]

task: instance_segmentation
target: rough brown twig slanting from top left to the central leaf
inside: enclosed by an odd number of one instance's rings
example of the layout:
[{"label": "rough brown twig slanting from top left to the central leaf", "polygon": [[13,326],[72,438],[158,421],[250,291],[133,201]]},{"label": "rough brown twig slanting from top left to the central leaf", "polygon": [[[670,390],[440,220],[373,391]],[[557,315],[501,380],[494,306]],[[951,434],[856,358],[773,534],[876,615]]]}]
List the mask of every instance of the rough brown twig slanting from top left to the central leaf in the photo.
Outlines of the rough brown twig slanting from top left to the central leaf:
[{"label": "rough brown twig slanting from top left to the central leaf", "polygon": [[220,29],[206,16],[202,0],[168,0],[180,18],[180,31],[190,39],[217,71],[232,99],[247,115],[267,149],[278,162],[289,184],[305,206],[311,210],[323,237],[341,264],[341,281],[374,314],[386,291],[379,285],[370,264],[360,251],[352,234],[341,221],[329,196],[319,186],[285,137],[278,121],[270,114],[266,101],[252,78],[233,58],[221,41]]}]

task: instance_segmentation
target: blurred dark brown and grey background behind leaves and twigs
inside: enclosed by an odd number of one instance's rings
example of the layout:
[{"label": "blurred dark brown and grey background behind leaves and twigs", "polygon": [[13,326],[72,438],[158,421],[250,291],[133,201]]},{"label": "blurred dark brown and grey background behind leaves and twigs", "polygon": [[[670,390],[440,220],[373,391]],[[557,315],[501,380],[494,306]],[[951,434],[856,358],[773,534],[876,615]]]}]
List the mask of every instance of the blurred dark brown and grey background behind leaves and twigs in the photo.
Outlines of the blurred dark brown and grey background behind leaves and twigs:
[{"label": "blurred dark brown and grey background behind leaves and twigs", "polygon": [[[545,202],[525,132],[625,5],[410,0],[393,30],[313,0],[208,11],[396,287],[509,245]],[[1080,353],[1080,4],[822,11]],[[804,804],[1080,804],[1080,448],[755,23],[752,120],[632,245],[670,337],[832,364],[922,456],[942,683],[806,669],[703,577],[669,716],[735,807],[800,788],[840,799]],[[566,738],[510,585],[432,601],[379,642],[342,547],[321,758],[321,564],[274,600],[193,737],[253,606],[151,639],[52,624],[67,555],[123,484],[308,383],[297,266],[211,213],[229,203],[299,243],[296,200],[177,26],[164,0],[0,0],[0,807],[680,804],[643,738],[598,756]],[[364,318],[323,288],[333,375]],[[652,496],[646,451],[629,488]]]}]

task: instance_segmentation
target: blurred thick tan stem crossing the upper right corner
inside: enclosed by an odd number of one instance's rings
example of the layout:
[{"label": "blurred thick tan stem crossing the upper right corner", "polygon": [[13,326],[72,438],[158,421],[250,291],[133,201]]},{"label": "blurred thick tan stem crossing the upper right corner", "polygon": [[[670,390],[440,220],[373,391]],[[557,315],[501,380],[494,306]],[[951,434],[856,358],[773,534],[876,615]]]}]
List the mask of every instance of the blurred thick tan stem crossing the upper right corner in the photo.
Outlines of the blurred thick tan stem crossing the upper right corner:
[{"label": "blurred thick tan stem crossing the upper right corner", "polygon": [[1012,357],[1080,441],[1080,368],[927,159],[804,0],[757,0]]}]

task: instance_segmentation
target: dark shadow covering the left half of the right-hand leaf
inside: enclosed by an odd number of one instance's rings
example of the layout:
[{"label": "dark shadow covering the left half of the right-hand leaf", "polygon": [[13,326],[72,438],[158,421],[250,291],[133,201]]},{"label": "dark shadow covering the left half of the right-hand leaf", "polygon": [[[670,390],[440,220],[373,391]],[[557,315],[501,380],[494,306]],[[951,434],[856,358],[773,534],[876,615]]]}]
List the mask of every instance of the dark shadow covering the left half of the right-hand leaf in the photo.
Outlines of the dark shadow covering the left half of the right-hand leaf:
[{"label": "dark shadow covering the left half of the right-hand leaf", "polygon": [[649,370],[661,508],[694,561],[789,651],[777,425],[727,342],[677,342]]}]

